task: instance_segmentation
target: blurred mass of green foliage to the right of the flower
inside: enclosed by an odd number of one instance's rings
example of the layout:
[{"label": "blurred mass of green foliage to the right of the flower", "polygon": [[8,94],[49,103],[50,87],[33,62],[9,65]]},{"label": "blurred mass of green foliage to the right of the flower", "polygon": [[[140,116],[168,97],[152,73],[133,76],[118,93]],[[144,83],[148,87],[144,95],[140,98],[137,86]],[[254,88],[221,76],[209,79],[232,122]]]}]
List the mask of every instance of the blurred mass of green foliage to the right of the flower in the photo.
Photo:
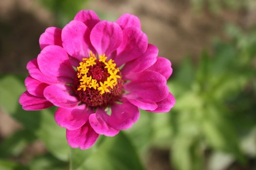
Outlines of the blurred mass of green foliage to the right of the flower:
[{"label": "blurred mass of green foliage to the right of the flower", "polygon": [[177,101],[171,113],[142,113],[126,132],[141,156],[152,146],[170,147],[177,170],[248,167],[255,160],[256,30],[246,34],[229,25],[226,32],[230,40],[216,40],[212,54],[203,51],[197,64],[188,57],[175,69],[168,83]]}]

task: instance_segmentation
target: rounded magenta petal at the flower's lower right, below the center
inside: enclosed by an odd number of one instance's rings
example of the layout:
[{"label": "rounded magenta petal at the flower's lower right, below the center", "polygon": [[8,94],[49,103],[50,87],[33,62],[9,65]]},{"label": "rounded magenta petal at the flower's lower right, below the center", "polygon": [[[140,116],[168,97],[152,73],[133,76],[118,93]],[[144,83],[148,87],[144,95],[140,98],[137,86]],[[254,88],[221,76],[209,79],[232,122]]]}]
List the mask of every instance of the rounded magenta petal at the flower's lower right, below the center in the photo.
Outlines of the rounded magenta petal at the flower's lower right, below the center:
[{"label": "rounded magenta petal at the flower's lower right, below the center", "polygon": [[131,128],[133,123],[139,118],[138,107],[130,102],[123,102],[122,104],[115,103],[111,106],[111,111],[108,123],[118,130]]}]

